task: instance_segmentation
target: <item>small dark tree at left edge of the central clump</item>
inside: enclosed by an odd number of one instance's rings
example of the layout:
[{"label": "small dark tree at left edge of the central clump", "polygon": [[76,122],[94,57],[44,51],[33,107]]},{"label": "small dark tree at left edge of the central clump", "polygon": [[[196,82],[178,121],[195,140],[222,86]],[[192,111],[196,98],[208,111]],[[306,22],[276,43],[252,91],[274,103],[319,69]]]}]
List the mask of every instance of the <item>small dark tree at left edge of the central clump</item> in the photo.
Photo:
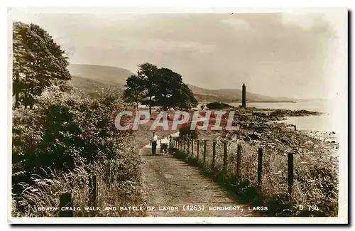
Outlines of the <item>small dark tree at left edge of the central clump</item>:
[{"label": "small dark tree at left edge of the central clump", "polygon": [[138,102],[143,97],[144,85],[143,79],[138,75],[131,75],[126,80],[126,89],[124,90],[124,100],[126,102],[135,102],[138,109]]}]

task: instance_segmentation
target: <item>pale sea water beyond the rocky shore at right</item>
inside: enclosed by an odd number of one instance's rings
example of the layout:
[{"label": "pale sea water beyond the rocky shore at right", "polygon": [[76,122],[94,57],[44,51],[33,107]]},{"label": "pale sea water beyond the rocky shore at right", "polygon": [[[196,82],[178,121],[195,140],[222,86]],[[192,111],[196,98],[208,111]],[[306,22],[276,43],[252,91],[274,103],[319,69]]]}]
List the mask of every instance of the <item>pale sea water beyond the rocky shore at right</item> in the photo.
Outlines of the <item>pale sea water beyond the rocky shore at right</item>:
[{"label": "pale sea water beyond the rocky shore at right", "polygon": [[[232,103],[233,106],[239,106],[240,103]],[[256,107],[263,109],[291,109],[322,112],[319,116],[307,117],[286,117],[283,121],[288,124],[295,124],[298,130],[312,131],[337,131],[334,120],[334,107],[329,100],[300,100],[298,102],[250,102],[247,107]]]}]

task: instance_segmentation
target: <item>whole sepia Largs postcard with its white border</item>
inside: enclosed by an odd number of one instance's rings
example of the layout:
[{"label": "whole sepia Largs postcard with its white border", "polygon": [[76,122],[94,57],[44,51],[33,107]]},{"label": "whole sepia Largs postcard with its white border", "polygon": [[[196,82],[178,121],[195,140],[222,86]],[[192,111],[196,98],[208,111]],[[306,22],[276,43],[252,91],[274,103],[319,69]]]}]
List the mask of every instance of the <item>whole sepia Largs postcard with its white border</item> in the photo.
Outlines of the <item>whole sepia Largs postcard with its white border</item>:
[{"label": "whole sepia Largs postcard with its white border", "polygon": [[346,9],[9,8],[9,222],[348,222]]}]

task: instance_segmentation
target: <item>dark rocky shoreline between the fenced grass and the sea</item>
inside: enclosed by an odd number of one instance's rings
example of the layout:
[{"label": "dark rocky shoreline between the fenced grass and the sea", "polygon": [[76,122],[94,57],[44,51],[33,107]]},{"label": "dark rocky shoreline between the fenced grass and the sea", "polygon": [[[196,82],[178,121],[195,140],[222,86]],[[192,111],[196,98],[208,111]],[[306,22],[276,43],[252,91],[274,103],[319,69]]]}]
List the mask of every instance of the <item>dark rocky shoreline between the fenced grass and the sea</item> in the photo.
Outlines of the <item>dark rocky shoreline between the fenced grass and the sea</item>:
[{"label": "dark rocky shoreline between the fenced grass and the sea", "polygon": [[284,151],[298,150],[334,156],[339,149],[334,131],[297,131],[294,124],[283,123],[285,117],[320,115],[320,112],[290,109],[258,109],[255,107],[233,107],[236,111],[233,124],[237,131],[201,131],[204,139],[227,139],[253,146],[279,146]]}]

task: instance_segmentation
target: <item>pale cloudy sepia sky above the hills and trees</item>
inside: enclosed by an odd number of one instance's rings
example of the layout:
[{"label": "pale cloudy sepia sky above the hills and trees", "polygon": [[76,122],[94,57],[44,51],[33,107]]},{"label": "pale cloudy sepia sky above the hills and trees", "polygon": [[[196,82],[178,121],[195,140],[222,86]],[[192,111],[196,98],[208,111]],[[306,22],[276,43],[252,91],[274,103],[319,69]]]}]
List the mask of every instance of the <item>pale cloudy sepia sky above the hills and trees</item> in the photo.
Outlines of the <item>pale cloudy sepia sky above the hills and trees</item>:
[{"label": "pale cloudy sepia sky above the hills and trees", "polygon": [[219,14],[123,14],[115,9],[12,9],[9,21],[42,26],[70,63],[137,71],[153,63],[209,89],[332,98],[346,77],[344,9]]}]

